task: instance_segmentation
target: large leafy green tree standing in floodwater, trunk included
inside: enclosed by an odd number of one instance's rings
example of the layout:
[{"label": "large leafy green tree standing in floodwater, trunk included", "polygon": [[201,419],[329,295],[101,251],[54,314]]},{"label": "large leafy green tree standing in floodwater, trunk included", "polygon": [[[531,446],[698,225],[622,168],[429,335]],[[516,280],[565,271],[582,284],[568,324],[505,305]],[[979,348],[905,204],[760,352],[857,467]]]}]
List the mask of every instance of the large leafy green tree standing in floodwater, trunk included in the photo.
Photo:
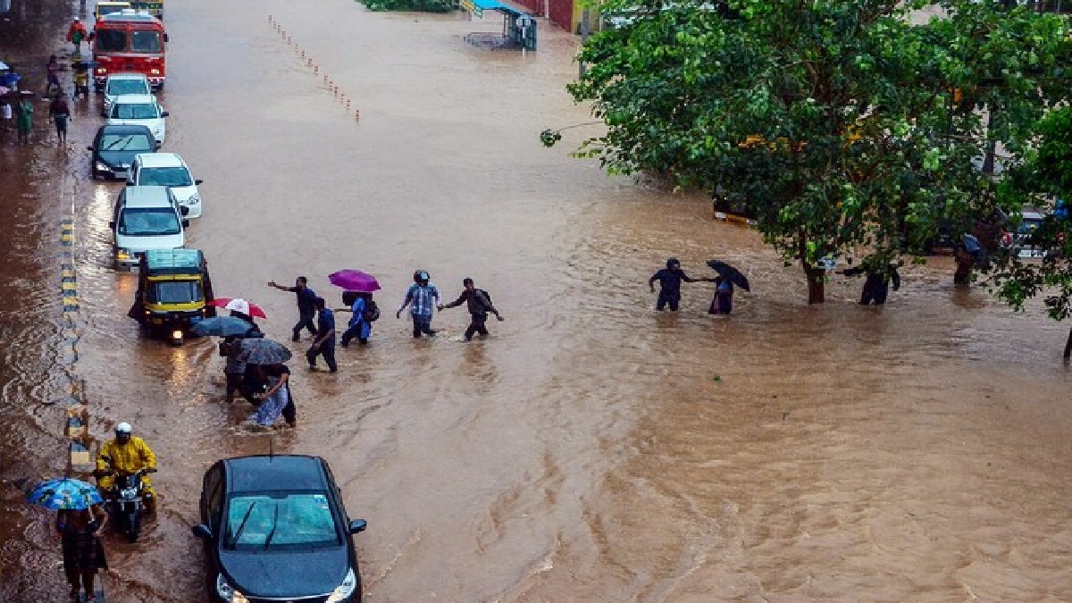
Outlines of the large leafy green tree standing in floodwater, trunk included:
[{"label": "large leafy green tree standing in floodwater, trunk included", "polygon": [[1003,1],[943,2],[925,23],[924,2],[641,2],[611,0],[629,23],[580,53],[568,89],[608,127],[582,155],[750,214],[809,303],[824,256],[887,265],[994,215],[1008,197],[982,159],[1019,161],[1069,89],[1063,18]]}]

